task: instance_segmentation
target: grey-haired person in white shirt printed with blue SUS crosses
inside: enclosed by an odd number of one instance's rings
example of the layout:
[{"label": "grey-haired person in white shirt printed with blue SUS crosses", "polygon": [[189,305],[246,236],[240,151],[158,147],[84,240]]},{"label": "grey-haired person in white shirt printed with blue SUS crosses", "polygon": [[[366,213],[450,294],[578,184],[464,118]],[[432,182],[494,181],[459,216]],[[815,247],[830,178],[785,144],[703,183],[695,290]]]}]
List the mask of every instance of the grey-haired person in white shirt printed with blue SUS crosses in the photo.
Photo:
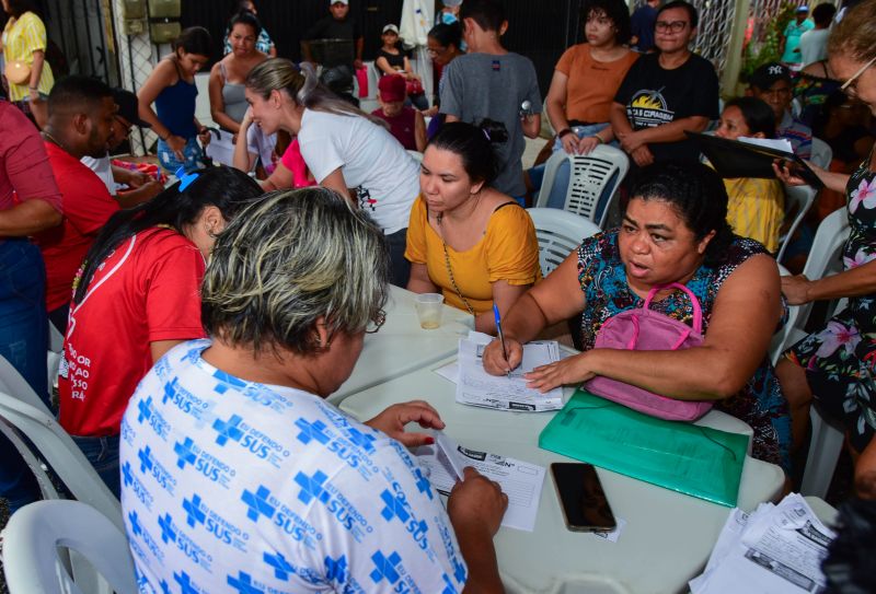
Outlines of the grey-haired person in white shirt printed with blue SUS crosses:
[{"label": "grey-haired person in white shirt printed with blue SUS crosses", "polygon": [[[493,536],[508,498],[466,468],[445,511],[405,447],[430,440],[405,426],[442,429],[438,412],[396,404],[362,423],[324,401],[383,323],[388,261],[381,229],[321,188],[266,195],[221,234],[201,289],[210,339],[152,368],[123,420],[143,587],[502,592]],[[180,555],[193,539],[199,555]]]}]

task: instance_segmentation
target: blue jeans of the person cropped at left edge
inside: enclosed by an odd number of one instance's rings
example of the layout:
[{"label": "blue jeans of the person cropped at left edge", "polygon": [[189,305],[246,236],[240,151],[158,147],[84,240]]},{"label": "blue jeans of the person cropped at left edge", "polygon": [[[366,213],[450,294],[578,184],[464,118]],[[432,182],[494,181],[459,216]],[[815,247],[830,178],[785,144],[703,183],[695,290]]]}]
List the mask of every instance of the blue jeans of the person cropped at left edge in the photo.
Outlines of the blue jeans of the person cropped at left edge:
[{"label": "blue jeans of the person cropped at left edge", "polygon": [[[45,288],[46,270],[39,248],[27,240],[0,242],[0,354],[49,406]],[[2,436],[0,496],[7,498],[10,513],[41,499],[31,469],[9,440]]]}]

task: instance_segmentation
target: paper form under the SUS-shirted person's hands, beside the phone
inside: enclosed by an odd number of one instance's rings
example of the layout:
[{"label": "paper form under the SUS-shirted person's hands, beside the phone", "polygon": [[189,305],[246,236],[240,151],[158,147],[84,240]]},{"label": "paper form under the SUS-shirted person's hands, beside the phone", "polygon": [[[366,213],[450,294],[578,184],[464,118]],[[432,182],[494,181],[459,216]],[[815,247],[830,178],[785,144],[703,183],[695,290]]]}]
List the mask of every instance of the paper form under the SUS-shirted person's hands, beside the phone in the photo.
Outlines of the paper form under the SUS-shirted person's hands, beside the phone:
[{"label": "paper form under the SUS-shirted person's hands, beside the phone", "polygon": [[[438,458],[437,445],[422,445],[414,451],[419,464],[429,470],[429,482],[442,494],[450,494],[457,482],[453,470]],[[502,492],[508,496],[508,509],[502,525],[508,528],[532,532],[544,485],[544,467],[515,458],[507,458],[486,452],[475,452],[458,446],[458,459],[463,466],[495,480]]]}]

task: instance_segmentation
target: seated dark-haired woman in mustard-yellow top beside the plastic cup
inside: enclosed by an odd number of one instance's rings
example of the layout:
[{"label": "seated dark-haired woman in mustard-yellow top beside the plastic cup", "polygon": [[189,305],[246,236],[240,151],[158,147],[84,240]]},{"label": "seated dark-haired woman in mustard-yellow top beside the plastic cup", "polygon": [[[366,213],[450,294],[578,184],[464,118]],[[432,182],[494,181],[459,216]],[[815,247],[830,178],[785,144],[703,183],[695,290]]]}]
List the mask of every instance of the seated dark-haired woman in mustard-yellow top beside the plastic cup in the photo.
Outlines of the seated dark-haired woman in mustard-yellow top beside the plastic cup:
[{"label": "seated dark-haired woman in mustard-yellow top beside the plastic cup", "polygon": [[541,269],[529,214],[489,187],[497,171],[489,139],[502,142],[504,128],[481,126],[446,124],[426,147],[404,255],[407,289],[440,290],[448,305],[475,316],[476,330],[494,334],[493,304],[506,312]]}]

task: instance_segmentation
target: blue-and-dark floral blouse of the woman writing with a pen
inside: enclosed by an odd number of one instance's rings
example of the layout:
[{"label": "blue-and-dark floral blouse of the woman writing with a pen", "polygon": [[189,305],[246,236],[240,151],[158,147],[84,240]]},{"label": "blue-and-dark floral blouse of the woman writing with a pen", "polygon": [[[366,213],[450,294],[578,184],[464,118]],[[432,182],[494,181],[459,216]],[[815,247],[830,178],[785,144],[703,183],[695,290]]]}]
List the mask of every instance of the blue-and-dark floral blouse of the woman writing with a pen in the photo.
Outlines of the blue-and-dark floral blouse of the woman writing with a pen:
[{"label": "blue-and-dark floral blouse of the woman writing with a pen", "polygon": [[[703,334],[706,336],[721,286],[740,264],[758,254],[768,252],[758,242],[736,237],[723,261],[703,264],[688,281],[688,289],[696,295],[703,310]],[[578,281],[586,302],[581,317],[581,341],[584,349],[588,350],[593,348],[596,335],[606,321],[620,312],[642,307],[644,303],[626,282],[626,269],[618,249],[616,229],[588,237],[580,245]],[[680,291],[653,302],[652,308],[685,324],[693,324],[693,307]],[[735,396],[716,400],[715,408],[751,426],[752,454],[756,458],[779,464],[786,470],[789,468],[791,418],[766,353],[746,386]]]}]

